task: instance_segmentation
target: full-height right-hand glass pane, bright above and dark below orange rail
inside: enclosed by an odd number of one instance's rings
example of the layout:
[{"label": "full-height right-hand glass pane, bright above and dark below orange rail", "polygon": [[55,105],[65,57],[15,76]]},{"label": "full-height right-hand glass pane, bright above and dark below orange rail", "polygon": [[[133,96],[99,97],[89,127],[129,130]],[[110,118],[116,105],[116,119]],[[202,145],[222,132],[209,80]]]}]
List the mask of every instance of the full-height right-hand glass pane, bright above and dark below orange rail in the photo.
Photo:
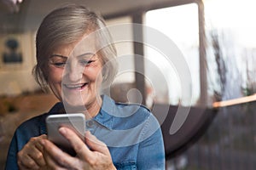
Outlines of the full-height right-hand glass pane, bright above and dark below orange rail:
[{"label": "full-height right-hand glass pane, bright above and dark below orange rail", "polygon": [[208,92],[218,107],[207,133],[191,147],[186,169],[256,166],[256,2],[205,0]]}]

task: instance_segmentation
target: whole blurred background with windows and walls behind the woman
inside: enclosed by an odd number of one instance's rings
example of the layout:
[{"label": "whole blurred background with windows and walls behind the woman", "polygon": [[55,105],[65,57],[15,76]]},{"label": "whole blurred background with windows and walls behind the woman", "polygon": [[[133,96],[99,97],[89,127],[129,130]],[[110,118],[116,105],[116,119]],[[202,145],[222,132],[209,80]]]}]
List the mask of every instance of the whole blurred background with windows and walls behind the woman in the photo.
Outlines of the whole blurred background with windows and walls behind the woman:
[{"label": "whole blurred background with windows and walls behind the woman", "polygon": [[[108,94],[154,112],[166,169],[255,169],[253,0],[0,0],[0,169],[15,128],[57,101],[38,87],[32,68],[40,22],[65,3],[88,6],[106,20],[119,57]],[[152,31],[168,43],[148,44]],[[181,55],[161,51],[168,45]]]}]

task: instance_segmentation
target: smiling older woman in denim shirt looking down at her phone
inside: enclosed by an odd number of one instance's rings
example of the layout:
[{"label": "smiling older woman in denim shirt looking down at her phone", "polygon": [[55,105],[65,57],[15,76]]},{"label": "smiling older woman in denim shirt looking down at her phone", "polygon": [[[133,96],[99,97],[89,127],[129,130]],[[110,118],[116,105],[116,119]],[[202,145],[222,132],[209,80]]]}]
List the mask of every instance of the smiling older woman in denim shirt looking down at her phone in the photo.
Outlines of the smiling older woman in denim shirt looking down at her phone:
[{"label": "smiling older woman in denim shirt looking down at her phone", "polygon": [[[60,102],[16,129],[6,169],[165,168],[162,134],[152,113],[101,95],[117,64],[99,15],[79,5],[56,8],[39,26],[36,48],[36,80],[42,87],[49,85]],[[68,127],[59,129],[75,156],[47,139],[45,118],[63,112],[86,116],[84,140]]]}]

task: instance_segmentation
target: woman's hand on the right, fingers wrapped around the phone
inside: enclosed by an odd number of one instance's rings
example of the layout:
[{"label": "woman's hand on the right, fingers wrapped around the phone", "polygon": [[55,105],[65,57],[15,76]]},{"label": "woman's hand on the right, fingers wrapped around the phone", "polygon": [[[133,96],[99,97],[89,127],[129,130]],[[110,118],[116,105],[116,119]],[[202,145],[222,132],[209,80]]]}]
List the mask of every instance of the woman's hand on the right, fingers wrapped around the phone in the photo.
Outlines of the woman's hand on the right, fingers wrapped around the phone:
[{"label": "woman's hand on the right, fingers wrapped around the phone", "polygon": [[85,133],[85,144],[73,130],[61,127],[59,131],[72,144],[77,156],[69,156],[49,140],[42,140],[47,166],[52,169],[116,169],[107,145],[89,131]]}]

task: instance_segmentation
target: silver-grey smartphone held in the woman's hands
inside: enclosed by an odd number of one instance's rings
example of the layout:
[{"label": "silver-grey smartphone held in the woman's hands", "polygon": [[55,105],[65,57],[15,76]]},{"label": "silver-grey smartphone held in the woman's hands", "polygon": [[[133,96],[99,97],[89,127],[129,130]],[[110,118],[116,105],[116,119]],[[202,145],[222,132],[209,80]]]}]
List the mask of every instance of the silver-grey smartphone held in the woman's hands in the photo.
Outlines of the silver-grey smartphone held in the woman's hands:
[{"label": "silver-grey smartphone held in the woman's hands", "polygon": [[59,133],[60,127],[68,127],[77,133],[79,138],[84,140],[85,116],[83,113],[68,113],[50,115],[46,118],[47,136],[50,141],[57,145],[61,150],[75,156],[71,144]]}]

